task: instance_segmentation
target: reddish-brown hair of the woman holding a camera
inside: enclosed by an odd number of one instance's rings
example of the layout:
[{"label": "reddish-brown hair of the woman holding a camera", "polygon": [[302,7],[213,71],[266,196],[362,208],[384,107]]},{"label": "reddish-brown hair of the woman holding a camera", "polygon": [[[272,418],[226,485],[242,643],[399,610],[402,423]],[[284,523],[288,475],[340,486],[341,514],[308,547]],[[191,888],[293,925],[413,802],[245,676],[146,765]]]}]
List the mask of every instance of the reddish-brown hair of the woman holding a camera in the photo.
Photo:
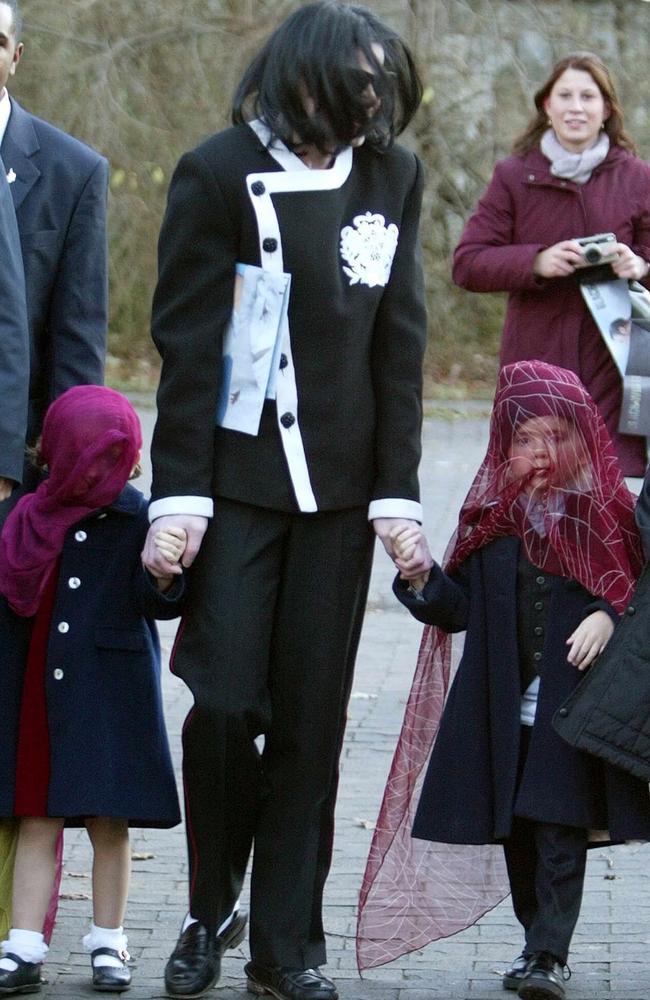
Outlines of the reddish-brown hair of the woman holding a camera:
[{"label": "reddish-brown hair of the woman holding a camera", "polygon": [[521,135],[515,139],[512,146],[513,153],[528,153],[539,145],[542,135],[548,128],[548,115],[544,110],[544,101],[567,69],[579,69],[589,73],[610,107],[609,118],[603,123],[610,143],[612,146],[622,146],[623,149],[629,149],[631,153],[635,153],[634,140],[627,134],[623,126],[623,109],[611,73],[602,59],[593,52],[573,52],[555,64],[548,80],[535,94],[537,113]]}]

